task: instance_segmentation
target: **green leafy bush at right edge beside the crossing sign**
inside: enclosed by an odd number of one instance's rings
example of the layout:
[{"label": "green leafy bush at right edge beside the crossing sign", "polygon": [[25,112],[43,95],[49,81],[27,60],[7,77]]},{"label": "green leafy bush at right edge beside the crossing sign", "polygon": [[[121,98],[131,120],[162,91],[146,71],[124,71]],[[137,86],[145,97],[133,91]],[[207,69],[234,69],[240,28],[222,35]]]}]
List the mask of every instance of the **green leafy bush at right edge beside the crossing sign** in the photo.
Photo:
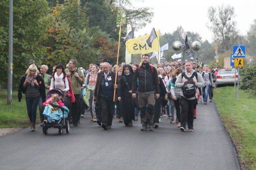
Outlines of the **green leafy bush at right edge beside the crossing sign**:
[{"label": "green leafy bush at right edge beside the crossing sign", "polygon": [[242,84],[241,89],[251,89],[256,94],[256,64],[246,66],[241,70]]}]

